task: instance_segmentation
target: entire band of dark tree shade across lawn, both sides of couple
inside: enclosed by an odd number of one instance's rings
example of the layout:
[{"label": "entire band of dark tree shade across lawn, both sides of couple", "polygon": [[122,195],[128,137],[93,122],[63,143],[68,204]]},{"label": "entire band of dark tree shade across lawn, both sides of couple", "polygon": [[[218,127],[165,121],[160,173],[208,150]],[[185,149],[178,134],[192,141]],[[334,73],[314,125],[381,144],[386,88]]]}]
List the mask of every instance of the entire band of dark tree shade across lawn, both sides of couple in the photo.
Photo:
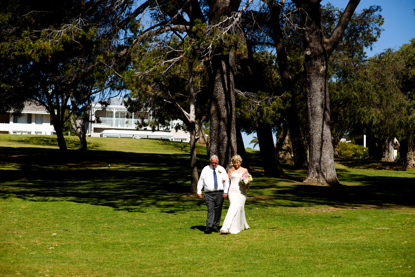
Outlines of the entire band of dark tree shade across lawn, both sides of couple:
[{"label": "entire band of dark tree shade across lawn, both sides of couple", "polygon": [[[144,154],[119,151],[0,148],[0,197],[30,201],[71,201],[117,210],[178,214],[206,209],[205,202],[186,195],[190,189],[188,154]],[[198,155],[199,173],[208,161]],[[111,165],[108,168],[108,165]],[[9,169],[7,169],[9,167]],[[13,168],[10,168],[13,167]],[[253,173],[247,207],[415,207],[413,178],[344,174],[347,185],[328,187],[300,183],[304,171],[278,179]],[[291,178],[291,179],[290,179]],[[254,207],[254,206],[252,206]]]}]

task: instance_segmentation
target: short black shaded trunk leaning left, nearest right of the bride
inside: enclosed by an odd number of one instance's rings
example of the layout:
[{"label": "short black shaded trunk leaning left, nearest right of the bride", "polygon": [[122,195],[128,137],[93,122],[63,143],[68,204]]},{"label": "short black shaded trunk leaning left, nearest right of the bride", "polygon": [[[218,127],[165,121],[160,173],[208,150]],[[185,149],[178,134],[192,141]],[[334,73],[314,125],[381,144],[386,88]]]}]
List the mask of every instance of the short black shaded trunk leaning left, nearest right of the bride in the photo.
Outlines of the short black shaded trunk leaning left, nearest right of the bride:
[{"label": "short black shaded trunk leaning left, nearest right of the bride", "polygon": [[275,150],[271,125],[259,123],[256,128],[256,135],[258,136],[259,152],[264,166],[264,174],[266,176],[285,177],[278,159],[278,154]]}]

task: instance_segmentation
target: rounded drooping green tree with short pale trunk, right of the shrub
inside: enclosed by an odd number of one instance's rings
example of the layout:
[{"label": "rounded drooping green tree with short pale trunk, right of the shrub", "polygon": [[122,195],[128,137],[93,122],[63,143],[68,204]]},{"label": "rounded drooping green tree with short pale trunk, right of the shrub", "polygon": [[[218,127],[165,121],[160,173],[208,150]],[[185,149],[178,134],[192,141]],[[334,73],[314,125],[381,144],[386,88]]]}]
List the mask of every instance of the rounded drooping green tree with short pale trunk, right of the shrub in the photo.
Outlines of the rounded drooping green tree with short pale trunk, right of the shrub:
[{"label": "rounded drooping green tree with short pale trunk, right of the shrub", "polygon": [[375,55],[350,79],[354,128],[369,138],[369,158],[393,161],[393,139],[407,118],[408,98],[399,90],[402,63],[391,49]]}]

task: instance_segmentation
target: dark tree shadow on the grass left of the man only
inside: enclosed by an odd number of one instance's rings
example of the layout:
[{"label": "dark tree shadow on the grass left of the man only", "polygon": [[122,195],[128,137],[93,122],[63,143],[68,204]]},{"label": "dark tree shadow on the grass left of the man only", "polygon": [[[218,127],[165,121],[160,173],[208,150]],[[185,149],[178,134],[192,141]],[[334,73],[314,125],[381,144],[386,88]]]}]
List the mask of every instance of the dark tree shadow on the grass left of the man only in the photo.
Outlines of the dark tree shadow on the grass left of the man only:
[{"label": "dark tree shadow on the grass left of the man only", "polygon": [[[32,201],[73,201],[119,210],[181,213],[205,203],[184,197],[190,189],[187,154],[1,148],[0,197]],[[207,164],[205,155],[200,168]],[[111,165],[108,167],[108,165]],[[16,170],[17,169],[17,170]]]}]

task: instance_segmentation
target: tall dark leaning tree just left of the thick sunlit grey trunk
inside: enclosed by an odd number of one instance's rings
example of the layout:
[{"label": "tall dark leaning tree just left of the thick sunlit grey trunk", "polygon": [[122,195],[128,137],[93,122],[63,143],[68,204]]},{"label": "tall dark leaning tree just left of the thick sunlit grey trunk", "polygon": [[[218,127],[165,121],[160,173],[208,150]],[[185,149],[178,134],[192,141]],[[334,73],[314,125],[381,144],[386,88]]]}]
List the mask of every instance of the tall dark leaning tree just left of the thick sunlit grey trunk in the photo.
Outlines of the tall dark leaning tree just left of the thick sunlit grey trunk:
[{"label": "tall dark leaning tree just left of the thick sunlit grey trunk", "polygon": [[[269,21],[261,29],[267,30],[269,44],[275,49],[281,81],[281,95],[288,99],[286,121],[293,146],[294,165],[298,168],[308,167],[307,135],[301,128],[301,108],[303,101],[303,66],[300,56],[300,34],[297,31],[298,13],[292,2],[264,0]],[[304,119],[304,117],[303,117]]]}]

